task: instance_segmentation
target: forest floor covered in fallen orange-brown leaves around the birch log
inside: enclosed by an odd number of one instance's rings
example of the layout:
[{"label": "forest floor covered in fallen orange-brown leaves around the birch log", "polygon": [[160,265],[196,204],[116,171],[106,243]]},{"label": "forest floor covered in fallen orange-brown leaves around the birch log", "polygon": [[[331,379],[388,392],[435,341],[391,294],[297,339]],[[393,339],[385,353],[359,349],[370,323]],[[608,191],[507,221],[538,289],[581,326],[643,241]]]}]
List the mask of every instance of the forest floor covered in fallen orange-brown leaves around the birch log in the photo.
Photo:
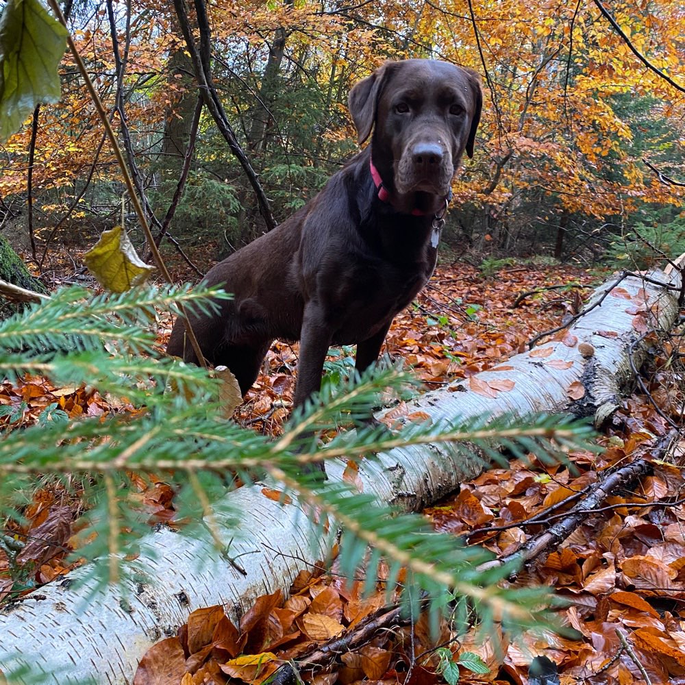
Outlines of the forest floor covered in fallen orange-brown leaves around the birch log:
[{"label": "forest floor covered in fallen orange-brown leaves around the birch log", "polygon": [[[601,279],[599,273],[572,266],[522,262],[486,276],[469,264],[443,264],[414,306],[395,319],[385,351],[391,359],[403,359],[426,388],[471,377],[523,351],[530,338],[575,314],[588,288]],[[529,294],[520,299],[523,293]],[[160,313],[160,349],[171,323],[168,314]],[[327,370],[344,373],[352,363],[353,349],[343,348],[329,357]],[[279,434],[292,406],[296,369],[297,345],[275,343],[236,420],[265,434]],[[680,501],[685,481],[680,466],[655,451],[671,432],[669,412],[680,420],[676,414],[681,391],[656,348],[649,369],[645,383],[651,399],[639,394],[625,399],[598,438],[606,448],[599,456],[571,453],[568,463],[551,467],[534,455],[526,463],[512,461],[508,469],[490,469],[462,484],[460,492],[425,512],[439,530],[456,536],[478,529],[469,543],[501,556],[548,527],[563,513],[561,508],[551,514],[549,508],[596,482],[603,469],[638,456],[653,461],[651,474],[635,490],[612,493],[606,510],[512,581],[554,588],[568,601],[559,610],[560,619],[575,632],[512,638],[501,630],[483,635],[474,629],[455,636],[443,623],[437,644],[455,657],[477,653],[489,669],[477,675],[462,668],[460,682],[526,685],[532,658],[545,654],[558,664],[560,682],[566,685],[685,683],[685,621],[679,614],[685,603],[685,508]],[[55,388],[40,377],[25,377],[14,385],[3,382],[0,405],[12,408],[0,419],[5,430],[38,421],[53,405],[73,418],[134,411],[108,406],[106,398],[90,388]],[[397,415],[403,411],[401,405],[395,408]],[[175,493],[163,475],[140,479],[138,485],[132,497],[141,515],[151,524],[175,525]],[[0,553],[0,601],[69,572],[73,564],[66,558],[77,545],[83,508],[77,487],[70,490],[46,481],[36,488],[24,512],[25,525],[6,531],[32,541],[23,551],[26,572],[18,577]],[[541,513],[536,525],[516,525]],[[58,528],[60,544],[46,545]],[[382,582],[370,597],[362,595],[361,586],[348,585],[334,573],[303,569],[289,599],[260,598],[238,627],[229,625],[221,609],[194,612],[188,624],[179,627],[178,638],[163,640],[149,651],[136,684],[190,685],[229,678],[260,683],[284,660],[301,658],[328,638],[351,634],[364,616],[384,605]],[[441,659],[445,651],[436,651],[436,640],[422,617],[413,627],[379,632],[336,664],[303,677],[316,685],[362,680],[432,685],[443,682],[436,675]],[[175,675],[162,677],[162,671]]]}]

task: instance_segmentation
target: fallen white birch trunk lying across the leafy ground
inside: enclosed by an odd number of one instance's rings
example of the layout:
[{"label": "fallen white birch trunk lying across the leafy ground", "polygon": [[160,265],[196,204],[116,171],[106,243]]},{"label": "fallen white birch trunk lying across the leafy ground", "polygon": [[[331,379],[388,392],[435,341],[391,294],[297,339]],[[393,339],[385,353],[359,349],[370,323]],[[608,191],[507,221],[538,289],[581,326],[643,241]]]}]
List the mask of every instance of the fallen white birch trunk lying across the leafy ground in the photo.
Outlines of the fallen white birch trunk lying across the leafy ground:
[{"label": "fallen white birch trunk lying across the leafy ground", "polygon": [[[649,277],[669,282],[661,271]],[[603,297],[615,281],[600,286],[589,304]],[[671,283],[680,285],[677,275],[671,275]],[[569,329],[577,337],[573,347],[551,340],[501,364],[510,368],[497,371],[495,367],[476,377],[485,384],[514,382],[511,390],[484,397],[470,389],[469,380],[460,381],[421,395],[411,403],[411,411],[426,412],[434,423],[460,416],[568,410],[608,416],[617,406],[619,389],[630,379],[631,346],[642,336],[635,317],[669,329],[678,311],[673,290],[637,277],[623,279],[619,287],[601,306],[575,321]],[[638,328],[643,328],[641,323]],[[590,345],[592,354],[588,354]],[[639,366],[639,356],[644,356],[639,345],[636,355]],[[579,400],[569,397],[574,383],[585,390]],[[340,479],[344,466],[342,461],[330,463],[329,477]],[[364,492],[406,510],[420,510],[483,468],[477,456],[449,445],[428,445],[381,454],[373,462],[362,462],[359,474]],[[200,539],[164,529],[151,532],[140,545],[136,581],[125,586],[124,595],[108,587],[86,599],[91,584],[76,583],[88,573],[83,567],[61,583],[42,587],[5,608],[0,614],[2,669],[9,669],[12,658],[18,657],[43,669],[60,685],[88,677],[132,682],[145,651],[162,636],[175,634],[190,611],[221,603],[237,619],[258,595],[287,590],[297,571],[325,556],[318,527],[297,501],[279,504],[266,497],[260,486],[253,486],[229,493],[225,503],[242,514],[239,526],[223,514],[216,515],[227,540],[232,538],[229,554],[236,564],[217,555],[209,535]]]}]

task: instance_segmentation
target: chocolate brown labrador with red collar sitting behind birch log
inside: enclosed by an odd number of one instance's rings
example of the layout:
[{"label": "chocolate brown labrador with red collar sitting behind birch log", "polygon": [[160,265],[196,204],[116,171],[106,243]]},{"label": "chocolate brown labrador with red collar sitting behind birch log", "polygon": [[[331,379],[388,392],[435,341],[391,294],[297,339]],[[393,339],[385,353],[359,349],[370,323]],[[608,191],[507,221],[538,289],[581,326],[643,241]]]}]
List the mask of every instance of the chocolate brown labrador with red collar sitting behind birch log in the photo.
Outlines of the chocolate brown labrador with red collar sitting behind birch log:
[{"label": "chocolate brown labrador with red collar sitting behind birch log", "polygon": [[[349,94],[360,144],[306,206],[210,269],[234,294],[190,318],[204,356],[240,390],[255,382],[274,338],[301,340],[295,406],[319,390],[330,345],[356,343],[360,373],[375,362],[395,314],[433,273],[451,179],[473,155],[480,79],[447,62],[386,62]],[[373,134],[372,134],[373,131]],[[184,322],[167,351],[197,362]]]}]

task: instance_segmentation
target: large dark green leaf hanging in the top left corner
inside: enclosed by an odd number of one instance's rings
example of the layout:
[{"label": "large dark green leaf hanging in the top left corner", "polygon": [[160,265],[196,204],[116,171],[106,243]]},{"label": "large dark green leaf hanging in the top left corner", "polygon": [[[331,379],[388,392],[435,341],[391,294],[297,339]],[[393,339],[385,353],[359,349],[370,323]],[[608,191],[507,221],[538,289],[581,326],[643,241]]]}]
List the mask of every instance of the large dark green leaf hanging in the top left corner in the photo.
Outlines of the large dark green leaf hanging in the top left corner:
[{"label": "large dark green leaf hanging in the top left corner", "polygon": [[60,99],[66,29],[39,0],[9,0],[0,17],[0,142],[41,102]]}]

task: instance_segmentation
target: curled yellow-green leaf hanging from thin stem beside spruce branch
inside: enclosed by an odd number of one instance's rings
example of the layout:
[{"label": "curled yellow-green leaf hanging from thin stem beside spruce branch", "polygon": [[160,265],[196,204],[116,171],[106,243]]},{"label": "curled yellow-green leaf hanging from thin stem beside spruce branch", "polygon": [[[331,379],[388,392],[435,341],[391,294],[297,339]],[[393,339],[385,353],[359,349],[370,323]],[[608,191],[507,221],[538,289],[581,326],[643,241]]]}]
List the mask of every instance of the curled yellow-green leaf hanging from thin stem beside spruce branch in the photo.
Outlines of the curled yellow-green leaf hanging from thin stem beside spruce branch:
[{"label": "curled yellow-green leaf hanging from thin stem beside spruce branch", "polygon": [[84,255],[84,261],[99,284],[112,292],[126,292],[140,285],[155,270],[138,257],[121,226],[103,231],[100,240]]}]

